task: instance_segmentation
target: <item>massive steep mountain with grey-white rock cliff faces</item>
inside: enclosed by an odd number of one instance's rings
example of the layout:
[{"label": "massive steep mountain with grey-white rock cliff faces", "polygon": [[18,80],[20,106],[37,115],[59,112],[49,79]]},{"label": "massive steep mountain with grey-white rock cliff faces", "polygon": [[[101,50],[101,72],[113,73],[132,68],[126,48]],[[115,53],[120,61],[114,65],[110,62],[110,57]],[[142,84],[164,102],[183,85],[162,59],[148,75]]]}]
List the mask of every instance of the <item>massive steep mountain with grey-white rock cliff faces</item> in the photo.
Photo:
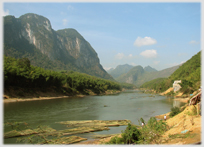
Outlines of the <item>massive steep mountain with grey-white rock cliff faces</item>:
[{"label": "massive steep mountain with grey-white rock cliff faces", "polygon": [[32,65],[45,69],[74,70],[113,80],[75,29],[55,31],[47,18],[33,13],[4,17],[4,54],[27,57]]}]

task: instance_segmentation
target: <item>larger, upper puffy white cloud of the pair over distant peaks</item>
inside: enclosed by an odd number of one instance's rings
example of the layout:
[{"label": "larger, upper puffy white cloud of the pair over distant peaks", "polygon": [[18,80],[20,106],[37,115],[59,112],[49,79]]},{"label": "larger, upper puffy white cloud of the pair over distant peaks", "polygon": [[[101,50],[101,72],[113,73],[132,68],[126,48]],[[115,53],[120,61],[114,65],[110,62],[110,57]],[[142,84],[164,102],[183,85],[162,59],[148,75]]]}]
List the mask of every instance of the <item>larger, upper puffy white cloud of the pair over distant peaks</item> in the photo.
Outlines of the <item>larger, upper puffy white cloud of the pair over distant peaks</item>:
[{"label": "larger, upper puffy white cloud of the pair over distant peaks", "polygon": [[140,47],[145,45],[153,45],[156,43],[157,41],[151,37],[144,37],[144,38],[137,37],[137,39],[134,42],[134,45]]}]

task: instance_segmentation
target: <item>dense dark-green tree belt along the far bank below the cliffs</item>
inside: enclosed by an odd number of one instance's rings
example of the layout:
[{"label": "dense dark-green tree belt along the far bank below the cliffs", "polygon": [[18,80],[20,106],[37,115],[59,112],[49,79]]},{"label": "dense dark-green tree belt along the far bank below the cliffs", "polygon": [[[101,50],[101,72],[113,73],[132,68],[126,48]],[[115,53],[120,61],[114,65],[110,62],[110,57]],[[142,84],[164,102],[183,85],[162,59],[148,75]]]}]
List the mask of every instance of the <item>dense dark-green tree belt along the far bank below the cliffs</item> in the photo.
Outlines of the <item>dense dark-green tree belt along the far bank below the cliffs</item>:
[{"label": "dense dark-green tree belt along the far bank below the cliffs", "polygon": [[103,93],[108,89],[121,90],[120,84],[87,74],[51,71],[30,65],[28,58],[15,59],[4,56],[4,86],[22,88],[56,87],[69,93]]}]

